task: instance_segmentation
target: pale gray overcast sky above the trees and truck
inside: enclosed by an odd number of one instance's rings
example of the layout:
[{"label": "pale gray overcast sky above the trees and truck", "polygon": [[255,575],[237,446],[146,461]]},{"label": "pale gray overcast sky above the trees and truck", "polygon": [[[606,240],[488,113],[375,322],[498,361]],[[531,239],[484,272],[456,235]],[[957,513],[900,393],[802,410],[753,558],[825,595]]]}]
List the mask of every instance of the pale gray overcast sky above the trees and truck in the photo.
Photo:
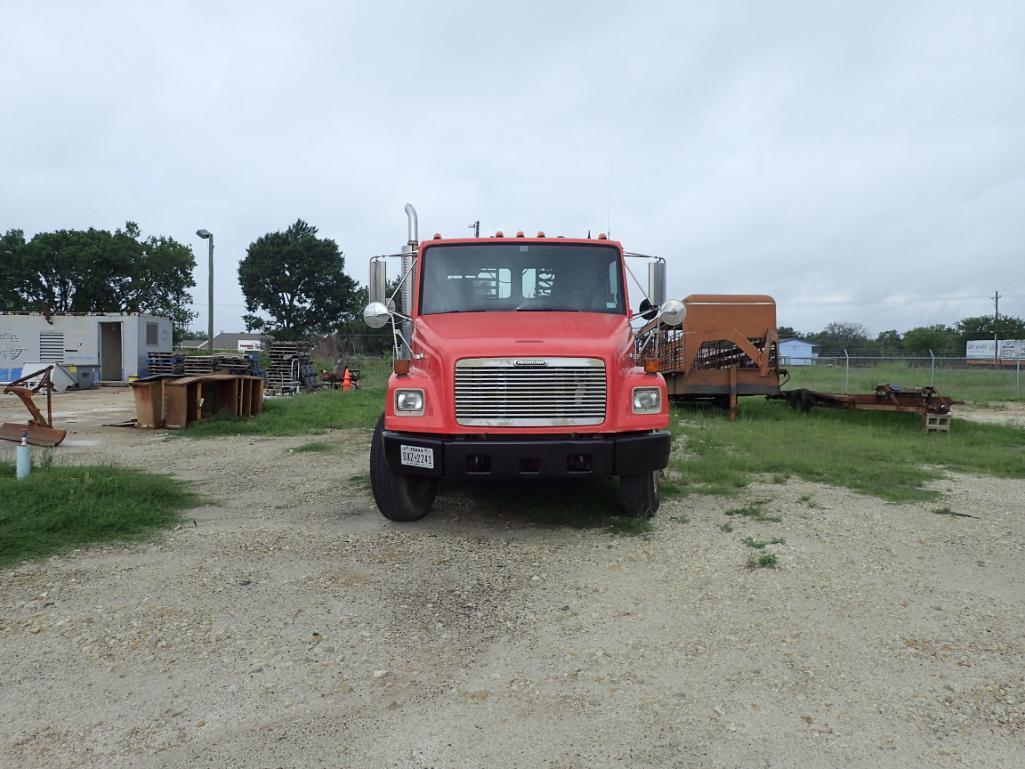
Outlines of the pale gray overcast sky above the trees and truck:
[{"label": "pale gray overcast sky above the trees and truck", "polygon": [[0,229],[606,230],[779,322],[1025,316],[1025,4],[4,4]]}]

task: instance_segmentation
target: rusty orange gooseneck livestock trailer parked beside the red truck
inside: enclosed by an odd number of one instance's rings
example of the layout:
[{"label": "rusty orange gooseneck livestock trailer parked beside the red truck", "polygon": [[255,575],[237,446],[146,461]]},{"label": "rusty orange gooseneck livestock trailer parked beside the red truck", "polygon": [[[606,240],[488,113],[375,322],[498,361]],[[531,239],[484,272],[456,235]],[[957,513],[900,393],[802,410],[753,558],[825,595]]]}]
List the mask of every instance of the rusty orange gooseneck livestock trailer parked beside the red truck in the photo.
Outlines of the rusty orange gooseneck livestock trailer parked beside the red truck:
[{"label": "rusty orange gooseneck livestock trailer parked beside the red truck", "polygon": [[661,328],[659,368],[670,400],[712,400],[737,413],[737,397],[779,393],[776,301],[764,294],[691,294],[679,328]]}]

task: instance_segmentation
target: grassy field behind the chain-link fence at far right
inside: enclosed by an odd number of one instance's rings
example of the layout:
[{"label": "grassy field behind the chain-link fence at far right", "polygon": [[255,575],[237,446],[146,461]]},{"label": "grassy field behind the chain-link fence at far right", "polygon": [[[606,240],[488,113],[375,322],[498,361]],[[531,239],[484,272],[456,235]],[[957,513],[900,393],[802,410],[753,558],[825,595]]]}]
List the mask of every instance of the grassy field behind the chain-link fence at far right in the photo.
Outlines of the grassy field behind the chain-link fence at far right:
[{"label": "grassy field behind the chain-link fence at far right", "polygon": [[[924,388],[930,383],[929,361],[922,365],[907,363],[886,363],[859,366],[854,361],[848,378],[848,392],[871,393],[876,385],[902,385],[905,388]],[[787,389],[807,388],[823,393],[844,392],[843,363],[838,366],[791,366]],[[992,369],[985,367],[945,368],[937,364],[935,387],[941,395],[985,404],[990,401],[1022,401],[1025,396],[1016,395],[1015,369]]]}]

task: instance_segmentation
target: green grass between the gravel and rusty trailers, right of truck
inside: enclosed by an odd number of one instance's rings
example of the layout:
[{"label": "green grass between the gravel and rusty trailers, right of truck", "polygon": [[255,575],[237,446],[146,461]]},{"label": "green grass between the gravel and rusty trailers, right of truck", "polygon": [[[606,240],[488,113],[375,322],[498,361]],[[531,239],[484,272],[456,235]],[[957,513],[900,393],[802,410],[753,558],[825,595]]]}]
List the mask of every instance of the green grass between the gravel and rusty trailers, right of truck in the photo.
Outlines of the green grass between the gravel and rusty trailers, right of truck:
[{"label": "green grass between the gravel and rusty trailers, right of truck", "polygon": [[944,470],[1025,478],[1025,431],[957,420],[924,433],[917,414],[817,408],[745,399],[737,421],[700,407],[673,411],[686,453],[671,459],[685,493],[736,494],[757,476],[794,476],[890,501],[934,499],[925,488]]}]

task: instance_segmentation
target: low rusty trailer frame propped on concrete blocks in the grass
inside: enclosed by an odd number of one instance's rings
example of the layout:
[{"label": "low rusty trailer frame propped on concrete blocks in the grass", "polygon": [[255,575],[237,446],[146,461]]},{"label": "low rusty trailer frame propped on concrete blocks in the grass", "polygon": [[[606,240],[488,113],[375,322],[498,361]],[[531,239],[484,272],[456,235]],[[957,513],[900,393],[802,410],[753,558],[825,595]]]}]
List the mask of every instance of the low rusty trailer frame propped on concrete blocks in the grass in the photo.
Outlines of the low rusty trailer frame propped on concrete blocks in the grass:
[{"label": "low rusty trailer frame propped on concrete blocks in the grass", "polygon": [[815,406],[848,408],[860,411],[892,411],[922,415],[922,429],[928,432],[949,430],[950,407],[965,401],[946,398],[936,388],[902,388],[899,385],[876,385],[873,393],[853,395],[816,393],[812,390],[789,390],[769,396],[785,400],[790,408],[807,412]]}]

